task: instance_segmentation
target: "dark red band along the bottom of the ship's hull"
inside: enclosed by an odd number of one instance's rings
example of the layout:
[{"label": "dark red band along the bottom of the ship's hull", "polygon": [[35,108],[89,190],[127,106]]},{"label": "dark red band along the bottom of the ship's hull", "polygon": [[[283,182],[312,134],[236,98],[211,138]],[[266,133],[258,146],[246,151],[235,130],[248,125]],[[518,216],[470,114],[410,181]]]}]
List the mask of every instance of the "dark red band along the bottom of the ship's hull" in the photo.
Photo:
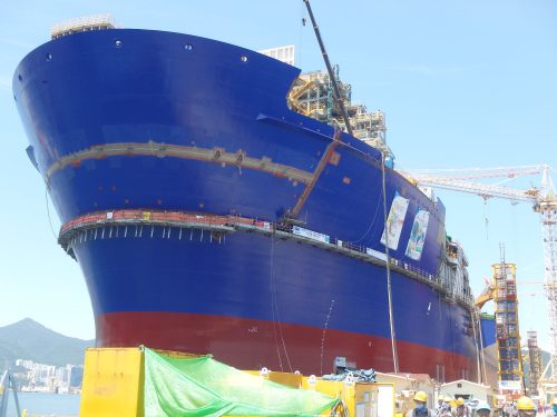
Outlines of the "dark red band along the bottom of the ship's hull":
[{"label": "dark red band along the bottom of the ship's hull", "polygon": [[[391,340],[328,329],[273,324],[270,321],[179,312],[129,311],[97,317],[100,347],[145,345],[156,349],[213,354],[216,359],[241,369],[263,366],[305,375],[328,374],[334,358],[345,357],[358,368],[393,370]],[[322,349],[322,345],[324,348]],[[476,361],[462,355],[398,341],[401,373],[429,374],[444,365],[446,380],[460,379],[462,369],[476,376]]]}]

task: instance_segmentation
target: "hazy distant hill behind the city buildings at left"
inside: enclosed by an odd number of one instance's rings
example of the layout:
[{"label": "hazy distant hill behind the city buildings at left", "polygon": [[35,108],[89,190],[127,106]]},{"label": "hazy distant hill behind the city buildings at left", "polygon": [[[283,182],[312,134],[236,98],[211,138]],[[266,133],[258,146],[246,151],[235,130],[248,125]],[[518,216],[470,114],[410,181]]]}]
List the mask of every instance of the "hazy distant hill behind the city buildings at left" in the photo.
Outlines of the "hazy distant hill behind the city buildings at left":
[{"label": "hazy distant hill behind the city buildings at left", "polygon": [[6,364],[13,366],[16,359],[56,366],[82,365],[85,348],[94,346],[95,340],[67,337],[26,318],[0,327],[0,369]]}]

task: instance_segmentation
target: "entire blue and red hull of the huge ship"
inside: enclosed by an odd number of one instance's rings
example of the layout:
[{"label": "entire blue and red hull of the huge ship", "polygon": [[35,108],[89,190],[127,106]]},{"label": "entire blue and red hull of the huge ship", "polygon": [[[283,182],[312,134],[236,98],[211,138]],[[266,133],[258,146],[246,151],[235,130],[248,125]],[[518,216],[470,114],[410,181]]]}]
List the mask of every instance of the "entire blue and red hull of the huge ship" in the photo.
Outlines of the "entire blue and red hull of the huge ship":
[{"label": "entire blue and red hull of the huge ship", "polygon": [[[384,252],[381,155],[291,111],[285,96],[299,72],[203,38],[105,30],[32,51],[13,91],[63,222],[98,212],[108,221],[124,209],[295,219],[340,246]],[[408,205],[390,250],[401,371],[472,378],[469,310],[434,285],[444,208],[384,175],[388,208],[398,196]],[[429,224],[410,257],[419,210]],[[381,262],[272,232],[115,228],[97,224],[66,246],[86,277],[100,346],[212,351],[245,368],[306,374],[330,371],[336,356],[392,370]],[[94,229],[109,236],[92,238]]]}]

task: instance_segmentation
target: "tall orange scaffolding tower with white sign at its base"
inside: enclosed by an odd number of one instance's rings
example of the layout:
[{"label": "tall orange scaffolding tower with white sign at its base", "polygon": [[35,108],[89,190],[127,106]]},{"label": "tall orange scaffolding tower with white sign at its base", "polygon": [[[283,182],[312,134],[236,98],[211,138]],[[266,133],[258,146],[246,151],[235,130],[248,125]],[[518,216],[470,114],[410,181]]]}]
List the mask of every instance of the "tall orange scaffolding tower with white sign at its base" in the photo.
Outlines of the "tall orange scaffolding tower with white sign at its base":
[{"label": "tall orange scaffolding tower with white sign at its base", "polygon": [[516,265],[492,265],[499,390],[501,394],[522,394],[524,374],[518,327]]}]

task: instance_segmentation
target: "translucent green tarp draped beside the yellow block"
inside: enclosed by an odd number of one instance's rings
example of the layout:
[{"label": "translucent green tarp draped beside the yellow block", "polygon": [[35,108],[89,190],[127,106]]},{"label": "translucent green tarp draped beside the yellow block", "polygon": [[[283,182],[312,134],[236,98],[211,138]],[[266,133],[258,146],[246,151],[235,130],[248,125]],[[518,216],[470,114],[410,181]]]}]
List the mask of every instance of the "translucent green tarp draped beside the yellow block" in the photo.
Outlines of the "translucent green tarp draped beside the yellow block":
[{"label": "translucent green tarp draped beside the yellow block", "polygon": [[145,348],[145,417],[315,416],[339,401],[224,365],[209,356],[173,358]]}]

